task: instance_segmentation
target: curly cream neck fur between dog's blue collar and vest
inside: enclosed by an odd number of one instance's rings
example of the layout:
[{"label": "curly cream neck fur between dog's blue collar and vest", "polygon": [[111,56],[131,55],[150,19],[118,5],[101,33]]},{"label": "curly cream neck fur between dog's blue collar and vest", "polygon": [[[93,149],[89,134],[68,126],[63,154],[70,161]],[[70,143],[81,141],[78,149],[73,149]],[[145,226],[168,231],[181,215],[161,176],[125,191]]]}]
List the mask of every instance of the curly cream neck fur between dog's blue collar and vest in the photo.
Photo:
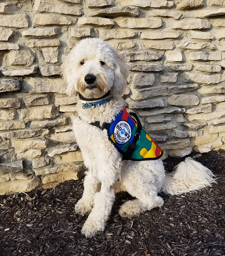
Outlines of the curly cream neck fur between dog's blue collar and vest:
[{"label": "curly cream neck fur between dog's blue collar and vest", "polygon": [[81,101],[77,103],[77,112],[81,119],[86,123],[99,121],[100,125],[103,123],[111,123],[115,116],[122,110],[122,107],[126,105],[125,100],[123,100],[121,96],[113,96],[111,100],[105,104],[92,108],[83,108]]}]

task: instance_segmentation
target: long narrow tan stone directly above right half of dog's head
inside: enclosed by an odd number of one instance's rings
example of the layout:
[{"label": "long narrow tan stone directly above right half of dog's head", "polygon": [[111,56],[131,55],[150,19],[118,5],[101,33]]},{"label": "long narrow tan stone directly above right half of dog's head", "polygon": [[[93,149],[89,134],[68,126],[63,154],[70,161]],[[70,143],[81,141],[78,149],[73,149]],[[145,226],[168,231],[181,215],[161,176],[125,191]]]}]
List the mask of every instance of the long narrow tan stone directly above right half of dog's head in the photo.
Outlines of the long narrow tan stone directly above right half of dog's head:
[{"label": "long narrow tan stone directly above right half of dog's head", "polygon": [[137,32],[125,29],[112,29],[99,31],[99,37],[103,40],[134,38]]}]

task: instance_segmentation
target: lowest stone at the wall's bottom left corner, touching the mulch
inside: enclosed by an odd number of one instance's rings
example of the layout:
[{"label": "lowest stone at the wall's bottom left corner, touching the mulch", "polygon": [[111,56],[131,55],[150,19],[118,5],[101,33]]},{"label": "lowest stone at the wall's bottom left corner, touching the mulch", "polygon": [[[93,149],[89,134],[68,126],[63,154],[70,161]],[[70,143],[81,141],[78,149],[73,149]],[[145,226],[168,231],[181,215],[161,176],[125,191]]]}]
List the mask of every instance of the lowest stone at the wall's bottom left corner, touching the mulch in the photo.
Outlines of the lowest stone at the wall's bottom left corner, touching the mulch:
[{"label": "lowest stone at the wall's bottom left corner, touching the mulch", "polygon": [[41,185],[39,177],[25,179],[25,180],[14,180],[1,183],[0,195],[10,195],[16,192],[28,192]]}]

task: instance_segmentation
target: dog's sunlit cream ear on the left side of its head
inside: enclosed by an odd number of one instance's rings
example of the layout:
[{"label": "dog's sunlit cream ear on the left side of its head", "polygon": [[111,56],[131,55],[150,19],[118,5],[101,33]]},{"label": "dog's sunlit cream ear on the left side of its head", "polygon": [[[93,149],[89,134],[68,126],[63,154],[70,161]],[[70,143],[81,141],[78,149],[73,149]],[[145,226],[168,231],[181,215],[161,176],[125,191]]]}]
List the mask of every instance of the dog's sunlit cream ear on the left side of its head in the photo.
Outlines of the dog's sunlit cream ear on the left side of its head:
[{"label": "dog's sunlit cream ear on the left side of its head", "polygon": [[73,67],[73,64],[71,63],[70,54],[69,54],[66,56],[66,58],[63,61],[63,64],[61,65],[61,75],[63,79],[67,82],[66,93],[69,96],[76,96],[78,92],[76,91],[74,86],[75,81],[72,76],[71,67]]}]

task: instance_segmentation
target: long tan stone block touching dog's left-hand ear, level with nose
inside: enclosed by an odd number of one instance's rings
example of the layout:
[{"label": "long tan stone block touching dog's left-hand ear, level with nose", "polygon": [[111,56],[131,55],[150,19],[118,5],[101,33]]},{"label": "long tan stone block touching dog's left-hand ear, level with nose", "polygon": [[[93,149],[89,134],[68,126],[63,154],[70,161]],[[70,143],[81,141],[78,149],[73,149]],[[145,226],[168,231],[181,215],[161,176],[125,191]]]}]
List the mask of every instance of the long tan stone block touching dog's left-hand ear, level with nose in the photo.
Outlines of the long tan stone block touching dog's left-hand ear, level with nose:
[{"label": "long tan stone block touching dog's left-hand ear, level with nose", "polygon": [[66,93],[66,82],[61,78],[29,78],[23,81],[22,88],[31,93]]}]

